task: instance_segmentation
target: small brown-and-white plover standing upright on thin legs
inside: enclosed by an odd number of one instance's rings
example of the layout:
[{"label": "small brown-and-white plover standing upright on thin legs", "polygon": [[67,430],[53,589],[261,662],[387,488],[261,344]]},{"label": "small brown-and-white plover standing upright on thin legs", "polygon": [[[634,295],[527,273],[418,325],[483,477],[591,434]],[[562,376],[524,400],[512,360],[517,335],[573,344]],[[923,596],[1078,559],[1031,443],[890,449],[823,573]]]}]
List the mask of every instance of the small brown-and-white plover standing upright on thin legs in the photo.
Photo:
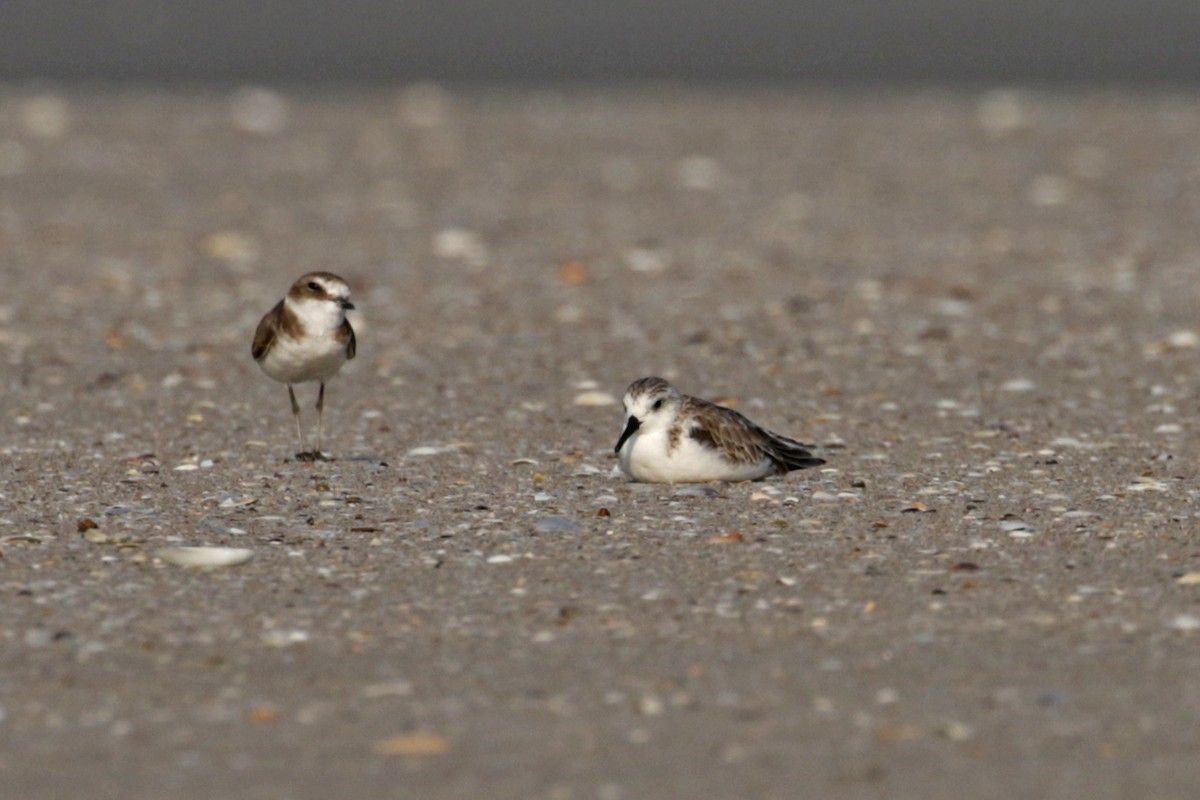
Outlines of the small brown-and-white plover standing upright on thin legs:
[{"label": "small brown-and-white plover standing upright on thin legs", "polygon": [[[337,374],[347,359],[354,357],[354,329],[346,311],[350,287],[332,272],[310,272],[296,278],[275,308],[269,311],[254,331],[251,354],[268,375],[288,385],[292,415],[296,420],[300,452],[296,458],[316,461],[320,452],[322,413],[325,408],[325,383]],[[317,446],[304,446],[300,429],[300,405],[293,384],[319,381],[317,390]]]}]

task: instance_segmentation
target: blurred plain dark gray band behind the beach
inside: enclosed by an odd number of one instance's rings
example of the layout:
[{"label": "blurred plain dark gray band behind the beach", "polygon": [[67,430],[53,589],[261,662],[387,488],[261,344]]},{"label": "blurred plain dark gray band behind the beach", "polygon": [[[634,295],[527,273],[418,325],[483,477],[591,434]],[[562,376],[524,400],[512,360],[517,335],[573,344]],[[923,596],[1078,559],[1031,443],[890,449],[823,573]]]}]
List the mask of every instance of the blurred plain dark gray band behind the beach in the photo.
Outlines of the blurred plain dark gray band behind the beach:
[{"label": "blurred plain dark gray band behind the beach", "polygon": [[0,79],[1177,82],[1193,0],[4,0]]}]

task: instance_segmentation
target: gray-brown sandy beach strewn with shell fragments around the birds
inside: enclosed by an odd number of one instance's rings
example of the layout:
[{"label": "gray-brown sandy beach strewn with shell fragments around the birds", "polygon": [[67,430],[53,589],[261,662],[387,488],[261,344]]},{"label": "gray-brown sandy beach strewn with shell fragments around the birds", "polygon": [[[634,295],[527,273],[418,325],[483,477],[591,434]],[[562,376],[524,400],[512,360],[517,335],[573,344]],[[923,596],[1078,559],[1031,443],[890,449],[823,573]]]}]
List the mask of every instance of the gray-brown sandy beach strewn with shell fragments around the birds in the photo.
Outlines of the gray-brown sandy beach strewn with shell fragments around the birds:
[{"label": "gray-brown sandy beach strewn with shell fragments around the birds", "polygon": [[0,91],[0,796],[1195,796],[1198,221],[1194,94]]}]

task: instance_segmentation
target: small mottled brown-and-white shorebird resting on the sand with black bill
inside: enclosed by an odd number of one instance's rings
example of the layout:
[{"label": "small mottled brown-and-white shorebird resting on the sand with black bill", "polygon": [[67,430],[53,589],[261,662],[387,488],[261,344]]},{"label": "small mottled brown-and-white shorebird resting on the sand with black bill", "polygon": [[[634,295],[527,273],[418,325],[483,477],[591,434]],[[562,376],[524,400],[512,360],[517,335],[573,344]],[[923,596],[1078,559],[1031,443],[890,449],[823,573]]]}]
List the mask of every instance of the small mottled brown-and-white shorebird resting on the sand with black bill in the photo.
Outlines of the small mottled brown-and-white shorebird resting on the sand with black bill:
[{"label": "small mottled brown-and-white shorebird resting on the sand with black bill", "polygon": [[661,378],[625,391],[625,429],[614,447],[635,481],[756,481],[824,461],[731,408],[679,393]]}]

